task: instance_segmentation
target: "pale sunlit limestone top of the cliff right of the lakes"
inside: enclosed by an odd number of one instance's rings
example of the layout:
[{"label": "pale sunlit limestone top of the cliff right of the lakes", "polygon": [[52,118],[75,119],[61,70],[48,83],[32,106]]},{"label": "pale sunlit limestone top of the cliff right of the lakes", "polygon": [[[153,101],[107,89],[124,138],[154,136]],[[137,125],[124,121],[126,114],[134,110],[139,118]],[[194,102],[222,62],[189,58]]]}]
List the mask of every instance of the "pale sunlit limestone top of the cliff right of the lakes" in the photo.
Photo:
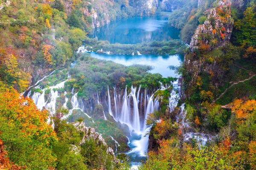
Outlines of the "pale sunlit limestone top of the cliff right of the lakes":
[{"label": "pale sunlit limestone top of the cliff right of the lakes", "polygon": [[222,0],[218,2],[216,8],[210,10],[207,20],[198,26],[191,39],[192,51],[202,46],[209,49],[218,48],[230,40],[234,24],[230,16],[230,8],[231,0]]}]

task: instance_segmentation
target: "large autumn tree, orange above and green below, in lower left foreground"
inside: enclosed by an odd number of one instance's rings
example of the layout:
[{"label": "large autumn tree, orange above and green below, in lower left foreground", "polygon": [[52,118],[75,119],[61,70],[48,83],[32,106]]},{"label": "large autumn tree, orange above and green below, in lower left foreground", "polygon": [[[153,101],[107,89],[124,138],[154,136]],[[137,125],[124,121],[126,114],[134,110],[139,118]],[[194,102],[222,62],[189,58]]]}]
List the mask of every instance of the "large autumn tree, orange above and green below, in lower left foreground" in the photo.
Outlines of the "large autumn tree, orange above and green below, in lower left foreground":
[{"label": "large autumn tree, orange above and green below, in lower left foreground", "polygon": [[51,148],[57,137],[47,124],[48,111],[14,89],[0,88],[0,101],[0,138],[10,161],[27,169],[55,167]]}]

